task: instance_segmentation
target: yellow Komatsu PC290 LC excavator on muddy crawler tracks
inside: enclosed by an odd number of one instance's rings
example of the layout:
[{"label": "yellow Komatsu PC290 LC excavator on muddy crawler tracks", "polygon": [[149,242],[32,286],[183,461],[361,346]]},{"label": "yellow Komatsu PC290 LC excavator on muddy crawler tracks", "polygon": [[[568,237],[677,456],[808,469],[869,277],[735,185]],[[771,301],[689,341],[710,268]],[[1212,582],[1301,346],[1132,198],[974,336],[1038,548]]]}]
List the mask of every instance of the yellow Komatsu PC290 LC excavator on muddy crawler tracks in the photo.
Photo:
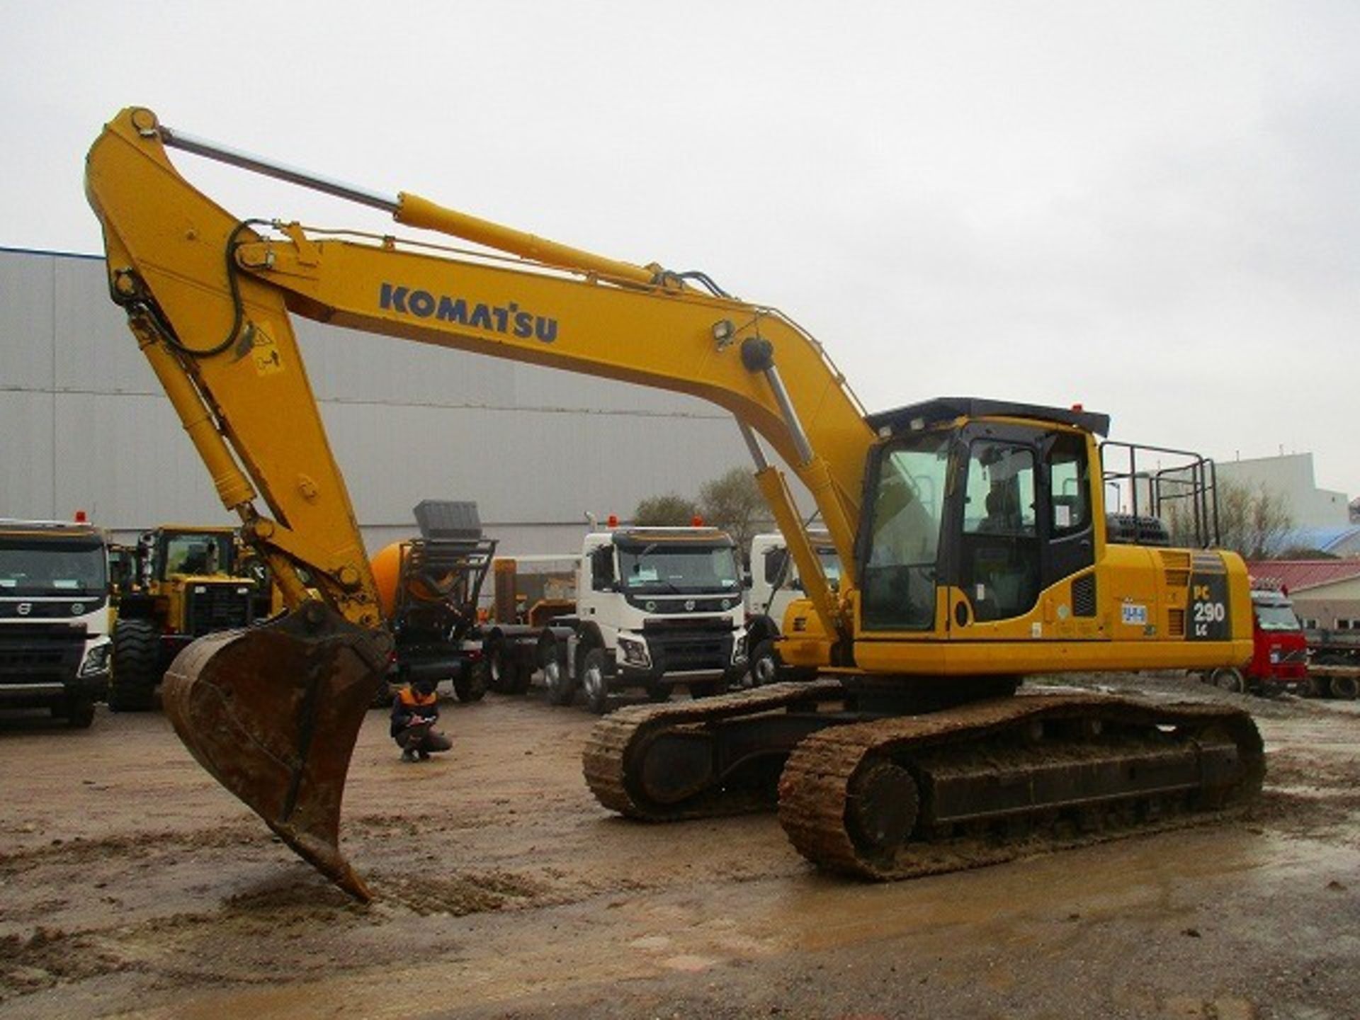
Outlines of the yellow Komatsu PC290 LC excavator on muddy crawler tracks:
[{"label": "yellow Komatsu PC290 LC excavator on muddy crawler tracks", "polygon": [[[239,220],[166,147],[494,252]],[[1251,656],[1238,556],[1156,544],[1137,515],[1107,522],[1104,415],[979,398],[866,415],[811,336],[703,273],[305,174],[147,109],[106,125],[86,189],[113,299],[291,609],[181,653],[166,710],[227,789],[351,894],[369,889],[340,851],[340,801],[390,638],[290,314],[690,393],[736,418],[806,594],[781,656],[821,679],[601,719],[583,764],[609,808],[665,820],[777,797],[809,860],[891,879],[1213,815],[1259,789],[1261,737],[1242,711],[1015,696],[1028,673]],[[767,447],[816,500],[835,588]]]}]

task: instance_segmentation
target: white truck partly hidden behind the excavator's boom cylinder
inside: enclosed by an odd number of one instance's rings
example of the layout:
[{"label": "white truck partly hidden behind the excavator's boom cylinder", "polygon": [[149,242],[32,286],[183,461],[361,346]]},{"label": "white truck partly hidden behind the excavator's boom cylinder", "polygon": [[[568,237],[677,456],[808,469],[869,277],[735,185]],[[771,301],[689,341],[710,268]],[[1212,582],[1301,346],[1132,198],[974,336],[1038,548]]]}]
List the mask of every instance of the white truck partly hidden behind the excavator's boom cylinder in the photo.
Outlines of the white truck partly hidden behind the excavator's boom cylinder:
[{"label": "white truck partly hidden behind the excavator's boom cylinder", "polygon": [[[840,581],[840,559],[831,544],[831,536],[824,530],[812,530],[808,537],[821,560],[827,581],[836,588]],[[778,641],[789,605],[804,597],[798,567],[789,555],[783,536],[779,532],[755,536],[751,540],[751,588],[747,590],[749,685],[759,687],[785,679],[789,670],[779,661]]]}]

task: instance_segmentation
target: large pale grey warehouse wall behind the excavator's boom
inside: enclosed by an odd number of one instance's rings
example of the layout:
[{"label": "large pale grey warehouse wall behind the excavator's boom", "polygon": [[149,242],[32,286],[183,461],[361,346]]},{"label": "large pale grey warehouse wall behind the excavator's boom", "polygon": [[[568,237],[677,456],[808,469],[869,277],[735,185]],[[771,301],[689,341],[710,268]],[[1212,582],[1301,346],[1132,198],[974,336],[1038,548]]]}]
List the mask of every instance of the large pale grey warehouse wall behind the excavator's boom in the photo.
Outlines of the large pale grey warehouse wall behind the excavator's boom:
[{"label": "large pale grey warehouse wall behind the excavator's boom", "polygon": [[[109,299],[102,258],[0,249],[0,517],[86,510],[124,539],[235,522]],[[751,464],[732,416],[692,397],[295,326],[370,551],[412,534],[422,499],[476,500],[503,552],[570,551],[586,511],[627,518]]]}]

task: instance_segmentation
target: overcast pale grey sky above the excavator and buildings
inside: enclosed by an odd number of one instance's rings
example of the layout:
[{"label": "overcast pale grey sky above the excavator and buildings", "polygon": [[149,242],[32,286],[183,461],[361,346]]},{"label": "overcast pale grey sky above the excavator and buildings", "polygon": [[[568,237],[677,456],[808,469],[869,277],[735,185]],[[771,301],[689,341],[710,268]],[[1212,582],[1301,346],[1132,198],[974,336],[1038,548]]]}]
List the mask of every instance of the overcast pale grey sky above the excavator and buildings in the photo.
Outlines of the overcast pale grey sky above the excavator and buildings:
[{"label": "overcast pale grey sky above the excavator and buildings", "polygon": [[[0,245],[102,252],[120,107],[781,307],[976,394],[1360,492],[1360,3],[0,0]],[[239,216],[379,214],[175,154]],[[12,339],[5,340],[12,341]]]}]

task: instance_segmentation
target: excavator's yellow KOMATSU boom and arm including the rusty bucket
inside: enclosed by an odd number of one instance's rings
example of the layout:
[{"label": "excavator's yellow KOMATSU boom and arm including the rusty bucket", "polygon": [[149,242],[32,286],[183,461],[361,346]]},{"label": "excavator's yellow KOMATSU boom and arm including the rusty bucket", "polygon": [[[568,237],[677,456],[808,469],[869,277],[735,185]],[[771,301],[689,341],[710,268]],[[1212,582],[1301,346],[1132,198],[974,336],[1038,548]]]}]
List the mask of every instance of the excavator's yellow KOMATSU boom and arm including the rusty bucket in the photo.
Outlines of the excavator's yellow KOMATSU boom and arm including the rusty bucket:
[{"label": "excavator's yellow KOMATSU boom and arm including the rusty bucket", "polygon": [[[242,222],[178,174],[167,144],[510,257]],[[760,441],[816,500],[846,592],[874,434],[821,347],[777,310],[418,196],[374,196],[268,165],[165,128],[146,109],[106,125],[88,154],[86,190],[103,226],[110,292],[223,506],[239,514],[242,537],[269,562],[292,611],[189,649],[167,673],[167,714],[209,772],[352,894],[369,895],[339,851],[340,800],[389,638],[290,314],[726,408],[823,632],[846,632],[842,600]]]}]

